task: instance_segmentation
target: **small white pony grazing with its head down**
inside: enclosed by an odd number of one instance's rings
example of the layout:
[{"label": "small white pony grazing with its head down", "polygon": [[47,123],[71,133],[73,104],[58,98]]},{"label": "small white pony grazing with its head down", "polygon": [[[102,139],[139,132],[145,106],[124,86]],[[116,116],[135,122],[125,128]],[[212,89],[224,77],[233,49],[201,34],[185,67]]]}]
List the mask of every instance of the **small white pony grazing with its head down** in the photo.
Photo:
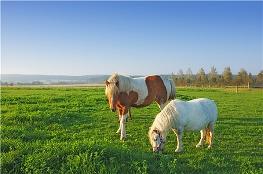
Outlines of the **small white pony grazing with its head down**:
[{"label": "small white pony grazing with its head down", "polygon": [[[205,135],[208,148],[212,148],[215,124],[217,120],[217,106],[214,101],[207,98],[198,98],[190,101],[172,100],[156,116],[149,128],[148,136],[153,152],[163,151],[166,134],[170,129],[177,136],[177,148],[180,152],[183,148],[183,131],[201,132],[201,139],[196,145],[203,145]],[[208,126],[207,126],[208,125]],[[206,130],[207,126],[207,130]]]}]

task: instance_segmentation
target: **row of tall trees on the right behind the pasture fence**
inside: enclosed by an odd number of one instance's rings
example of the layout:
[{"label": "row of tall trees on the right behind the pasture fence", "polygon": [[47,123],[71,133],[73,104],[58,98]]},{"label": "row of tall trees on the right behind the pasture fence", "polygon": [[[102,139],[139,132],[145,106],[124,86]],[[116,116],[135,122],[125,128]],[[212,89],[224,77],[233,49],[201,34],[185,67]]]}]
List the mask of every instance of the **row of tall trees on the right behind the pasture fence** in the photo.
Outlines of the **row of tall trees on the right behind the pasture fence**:
[{"label": "row of tall trees on the right behind the pasture fence", "polygon": [[263,83],[263,70],[260,71],[257,78],[242,68],[237,75],[233,76],[230,67],[225,67],[222,75],[219,75],[216,67],[211,67],[209,74],[201,68],[196,75],[193,75],[191,68],[188,68],[186,74],[180,69],[177,76],[173,73],[169,76],[176,86],[188,85],[212,85],[212,86],[245,86],[248,83]]}]

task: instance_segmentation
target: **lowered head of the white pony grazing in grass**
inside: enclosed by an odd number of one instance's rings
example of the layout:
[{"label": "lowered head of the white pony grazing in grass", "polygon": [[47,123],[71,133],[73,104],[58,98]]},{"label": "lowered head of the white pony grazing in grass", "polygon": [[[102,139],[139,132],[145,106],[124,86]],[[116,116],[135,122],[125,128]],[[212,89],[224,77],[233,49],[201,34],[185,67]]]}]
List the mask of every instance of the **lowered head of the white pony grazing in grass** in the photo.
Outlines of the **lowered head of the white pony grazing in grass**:
[{"label": "lowered head of the white pony grazing in grass", "polygon": [[149,138],[150,143],[152,145],[152,150],[155,153],[158,153],[159,151],[163,152],[164,150],[164,143],[166,141],[166,137],[162,137],[161,133],[157,129],[149,128]]}]

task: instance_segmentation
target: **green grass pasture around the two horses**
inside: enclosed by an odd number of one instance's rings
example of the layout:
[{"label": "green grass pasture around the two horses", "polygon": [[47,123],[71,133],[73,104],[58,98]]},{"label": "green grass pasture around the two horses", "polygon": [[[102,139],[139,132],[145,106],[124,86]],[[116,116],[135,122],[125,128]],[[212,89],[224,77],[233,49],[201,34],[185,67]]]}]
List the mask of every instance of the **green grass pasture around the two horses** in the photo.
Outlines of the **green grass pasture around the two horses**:
[{"label": "green grass pasture around the two horses", "polygon": [[105,88],[1,87],[1,174],[263,174],[263,90],[177,88],[182,100],[206,97],[218,107],[212,149],[200,133],[167,136],[164,154],[147,137],[153,103],[132,108],[120,141]]}]

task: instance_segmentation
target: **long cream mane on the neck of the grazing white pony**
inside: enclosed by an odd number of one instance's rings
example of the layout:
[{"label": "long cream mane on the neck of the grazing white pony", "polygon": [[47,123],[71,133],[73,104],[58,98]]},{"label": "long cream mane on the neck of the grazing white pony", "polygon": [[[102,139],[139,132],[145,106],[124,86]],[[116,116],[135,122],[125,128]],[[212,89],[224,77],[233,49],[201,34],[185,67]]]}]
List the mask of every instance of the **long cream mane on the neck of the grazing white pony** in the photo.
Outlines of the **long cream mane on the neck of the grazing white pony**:
[{"label": "long cream mane on the neck of the grazing white pony", "polygon": [[[176,99],[178,100],[178,99]],[[174,102],[176,100],[172,100],[169,104],[167,104],[164,109],[155,117],[152,126],[148,132],[148,137],[150,138],[150,143],[153,142],[153,133],[154,130],[158,130],[161,136],[166,136],[166,134],[172,129],[177,127],[177,123],[179,120],[178,109],[175,106]]]}]

